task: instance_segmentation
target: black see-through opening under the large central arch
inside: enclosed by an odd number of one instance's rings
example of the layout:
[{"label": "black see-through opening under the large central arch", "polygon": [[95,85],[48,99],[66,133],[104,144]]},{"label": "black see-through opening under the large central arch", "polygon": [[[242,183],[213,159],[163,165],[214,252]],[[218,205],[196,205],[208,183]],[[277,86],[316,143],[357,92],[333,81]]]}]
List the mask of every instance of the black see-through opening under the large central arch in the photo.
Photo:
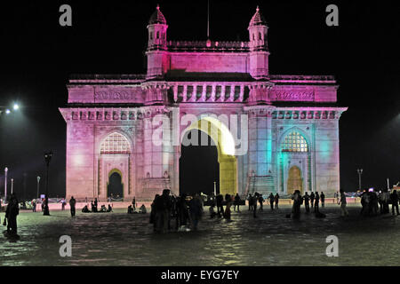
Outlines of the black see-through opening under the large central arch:
[{"label": "black see-through opening under the large central arch", "polygon": [[[198,138],[198,146],[181,146],[180,148],[180,194],[202,192],[211,194],[216,182],[217,193],[220,192],[220,163],[218,150],[212,146],[211,138],[200,130],[190,130],[186,139]],[[202,136],[207,145],[202,146]]]}]

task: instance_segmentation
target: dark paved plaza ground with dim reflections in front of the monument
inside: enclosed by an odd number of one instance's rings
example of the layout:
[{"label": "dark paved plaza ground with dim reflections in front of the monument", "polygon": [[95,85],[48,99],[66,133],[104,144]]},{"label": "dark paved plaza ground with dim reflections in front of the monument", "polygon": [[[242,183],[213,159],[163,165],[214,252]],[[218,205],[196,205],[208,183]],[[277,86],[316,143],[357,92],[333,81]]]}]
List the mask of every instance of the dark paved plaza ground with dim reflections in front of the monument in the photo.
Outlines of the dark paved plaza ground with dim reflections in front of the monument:
[{"label": "dark paved plaza ground with dim reflections in front of the monument", "polygon": [[[326,218],[286,218],[289,206],[258,218],[243,207],[232,222],[204,216],[197,232],[155,234],[147,215],[21,212],[19,241],[0,234],[1,265],[398,265],[400,217],[360,217],[350,205],[341,218],[337,205]],[[206,209],[207,210],[207,209]],[[304,211],[304,209],[302,209]],[[1,214],[2,221],[4,213]],[[72,238],[72,256],[60,257],[61,235]],[[326,237],[339,238],[339,257],[325,255]]]}]

